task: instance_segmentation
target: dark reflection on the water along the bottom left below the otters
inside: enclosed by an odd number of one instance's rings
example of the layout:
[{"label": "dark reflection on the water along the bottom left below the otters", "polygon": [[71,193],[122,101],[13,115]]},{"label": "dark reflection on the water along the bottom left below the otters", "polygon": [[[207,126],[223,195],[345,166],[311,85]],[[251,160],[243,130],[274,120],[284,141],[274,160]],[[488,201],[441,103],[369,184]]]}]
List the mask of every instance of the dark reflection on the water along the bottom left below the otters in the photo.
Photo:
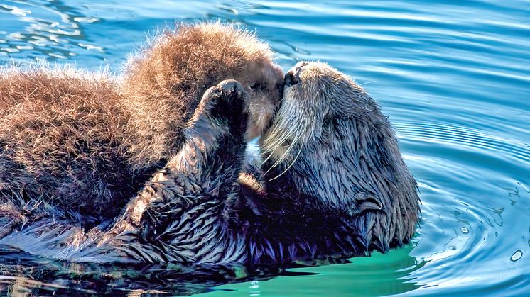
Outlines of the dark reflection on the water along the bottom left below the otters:
[{"label": "dark reflection on the water along the bottom left below the otters", "polygon": [[[102,265],[38,259],[0,245],[0,292],[72,295],[156,294],[190,295],[212,286],[272,276],[308,276],[310,271],[278,267],[188,267],[178,264]],[[254,286],[258,288],[259,286]]]}]

